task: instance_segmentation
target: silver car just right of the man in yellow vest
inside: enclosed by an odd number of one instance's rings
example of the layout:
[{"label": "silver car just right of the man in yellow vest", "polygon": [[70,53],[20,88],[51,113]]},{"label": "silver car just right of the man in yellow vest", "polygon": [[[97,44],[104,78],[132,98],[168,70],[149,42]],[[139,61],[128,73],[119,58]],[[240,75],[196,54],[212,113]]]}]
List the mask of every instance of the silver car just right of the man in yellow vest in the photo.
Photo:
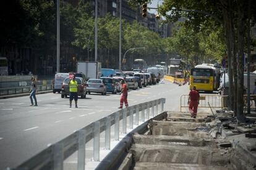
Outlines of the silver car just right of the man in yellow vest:
[{"label": "silver car just right of the man in yellow vest", "polygon": [[96,92],[106,95],[106,85],[104,84],[103,79],[88,79],[87,92],[88,94]]}]

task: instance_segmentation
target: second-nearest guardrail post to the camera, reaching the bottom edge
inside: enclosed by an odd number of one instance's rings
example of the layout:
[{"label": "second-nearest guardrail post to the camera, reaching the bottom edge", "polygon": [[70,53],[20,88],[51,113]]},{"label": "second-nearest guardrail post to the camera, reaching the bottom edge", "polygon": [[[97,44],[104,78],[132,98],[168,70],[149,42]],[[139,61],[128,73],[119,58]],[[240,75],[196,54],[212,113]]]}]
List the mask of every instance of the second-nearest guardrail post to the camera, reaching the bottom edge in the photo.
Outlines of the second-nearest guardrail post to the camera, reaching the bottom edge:
[{"label": "second-nearest guardrail post to the camera, reaching the bottom edge", "polygon": [[85,130],[78,131],[77,169],[85,169]]}]

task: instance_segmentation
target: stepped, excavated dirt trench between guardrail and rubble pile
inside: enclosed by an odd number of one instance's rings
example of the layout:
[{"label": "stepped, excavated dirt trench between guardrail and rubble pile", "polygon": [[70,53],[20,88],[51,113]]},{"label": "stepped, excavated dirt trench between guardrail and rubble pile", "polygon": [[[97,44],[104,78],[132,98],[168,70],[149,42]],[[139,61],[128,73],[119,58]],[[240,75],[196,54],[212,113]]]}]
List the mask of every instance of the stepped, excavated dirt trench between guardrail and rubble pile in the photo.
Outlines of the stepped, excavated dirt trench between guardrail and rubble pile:
[{"label": "stepped, excavated dirt trench between guardrail and rubble pile", "polygon": [[164,120],[150,121],[146,133],[134,134],[119,169],[244,169],[232,145],[213,135],[214,127],[215,119],[207,114],[194,119],[168,112]]}]

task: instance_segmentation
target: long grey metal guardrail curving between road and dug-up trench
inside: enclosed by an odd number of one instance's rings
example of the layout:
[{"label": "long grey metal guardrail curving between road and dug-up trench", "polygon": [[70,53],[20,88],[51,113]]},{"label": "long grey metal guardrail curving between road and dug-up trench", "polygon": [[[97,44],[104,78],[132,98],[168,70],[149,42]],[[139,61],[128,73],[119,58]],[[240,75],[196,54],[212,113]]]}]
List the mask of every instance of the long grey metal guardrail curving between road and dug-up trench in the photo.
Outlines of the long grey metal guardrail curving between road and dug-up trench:
[{"label": "long grey metal guardrail curving between road and dug-up trench", "polygon": [[[127,126],[133,129],[134,124],[139,125],[139,117],[142,122],[151,116],[158,115],[158,108],[161,112],[164,109],[165,99],[152,100],[140,103],[128,108],[116,111],[105,118],[88,124],[79,131],[75,131],[70,136],[62,139],[56,144],[50,145],[42,152],[33,156],[25,163],[20,164],[16,169],[63,169],[63,162],[66,158],[77,152],[77,169],[85,169],[86,144],[93,139],[93,160],[100,161],[100,133],[105,132],[105,149],[110,149],[111,126],[114,125],[114,140],[119,140],[120,121],[122,121],[122,133],[127,133]],[[139,114],[141,112],[141,114]],[[135,121],[134,121],[135,115]],[[129,116],[129,124],[127,117]]]}]

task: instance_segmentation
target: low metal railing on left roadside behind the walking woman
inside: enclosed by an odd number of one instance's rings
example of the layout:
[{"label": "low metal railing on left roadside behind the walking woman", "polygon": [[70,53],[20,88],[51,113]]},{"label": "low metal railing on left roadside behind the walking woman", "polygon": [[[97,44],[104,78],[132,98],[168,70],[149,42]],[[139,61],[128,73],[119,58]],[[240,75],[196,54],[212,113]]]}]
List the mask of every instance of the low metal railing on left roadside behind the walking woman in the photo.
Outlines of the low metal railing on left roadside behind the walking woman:
[{"label": "low metal railing on left roadside behind the walking woman", "polygon": [[[22,94],[30,92],[31,86],[21,86],[21,87],[9,87],[0,88],[0,95],[11,95],[11,94]],[[37,91],[48,91],[52,90],[52,84],[37,85]]]}]

